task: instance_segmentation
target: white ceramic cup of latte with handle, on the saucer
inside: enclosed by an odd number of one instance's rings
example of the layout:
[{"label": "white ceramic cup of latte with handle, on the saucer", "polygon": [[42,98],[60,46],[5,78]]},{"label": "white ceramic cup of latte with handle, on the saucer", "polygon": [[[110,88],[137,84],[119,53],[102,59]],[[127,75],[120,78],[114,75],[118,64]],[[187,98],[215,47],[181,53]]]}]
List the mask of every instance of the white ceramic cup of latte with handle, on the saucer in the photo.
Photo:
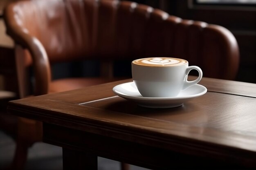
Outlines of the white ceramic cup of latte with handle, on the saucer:
[{"label": "white ceramic cup of latte with handle, on the saucer", "polygon": [[[187,76],[193,69],[199,76],[188,81]],[[189,66],[188,61],[179,58],[150,57],[132,61],[132,79],[143,97],[175,97],[197,84],[202,75],[201,68]]]}]

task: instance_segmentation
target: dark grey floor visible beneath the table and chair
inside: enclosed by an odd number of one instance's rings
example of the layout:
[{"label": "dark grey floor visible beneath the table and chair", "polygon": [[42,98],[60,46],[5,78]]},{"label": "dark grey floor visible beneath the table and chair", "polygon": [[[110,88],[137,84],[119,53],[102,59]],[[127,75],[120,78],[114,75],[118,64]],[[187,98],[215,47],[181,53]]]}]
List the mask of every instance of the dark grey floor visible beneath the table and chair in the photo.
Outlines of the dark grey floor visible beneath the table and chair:
[{"label": "dark grey floor visible beneath the table and chair", "polygon": [[[15,142],[0,131],[0,170],[4,170],[12,160]],[[37,143],[28,155],[25,170],[62,170],[62,149],[57,146]],[[98,170],[120,170],[119,162],[98,157]],[[137,166],[130,166],[130,170],[147,170]]]}]

